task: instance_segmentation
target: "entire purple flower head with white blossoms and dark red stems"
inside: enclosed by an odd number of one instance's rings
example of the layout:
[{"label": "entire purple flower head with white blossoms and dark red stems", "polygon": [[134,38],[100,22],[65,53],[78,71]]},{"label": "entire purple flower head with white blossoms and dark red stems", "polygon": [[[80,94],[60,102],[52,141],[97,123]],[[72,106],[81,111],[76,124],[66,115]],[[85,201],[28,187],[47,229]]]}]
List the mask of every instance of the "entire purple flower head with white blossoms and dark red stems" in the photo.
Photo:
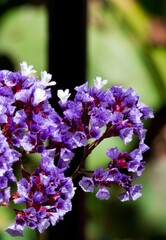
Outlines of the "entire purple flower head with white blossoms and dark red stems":
[{"label": "entire purple flower head with white blossoms and dark red stems", "polygon": [[[6,229],[12,236],[23,236],[25,226],[42,233],[50,223],[55,225],[63,219],[71,211],[75,193],[72,179],[78,174],[85,174],[79,182],[84,191],[93,192],[99,186],[99,199],[110,197],[112,184],[125,189],[119,196],[121,201],[140,197],[142,186],[132,185],[132,181],[141,176],[145,163],[142,154],[148,150],[142,120],[153,117],[152,110],[139,101],[133,89],[113,86],[104,90],[107,80],[100,77],[92,88],[88,83],[77,86],[74,100],[69,100],[69,89],[58,90],[62,111],[57,113],[49,104],[51,91],[47,88],[56,82],[46,71],[41,72],[41,80],[35,73],[26,62],[21,63],[19,72],[0,71],[0,204],[16,213],[15,223]],[[105,138],[119,136],[127,144],[133,135],[139,147],[131,153],[110,148],[106,169],[82,169],[86,158]],[[72,176],[66,177],[65,171],[74,161],[73,150],[78,147],[84,147],[84,155]],[[41,160],[29,173],[22,159],[32,153],[40,154]],[[22,174],[18,180],[13,173],[17,161]],[[10,182],[16,182],[15,192]],[[18,210],[10,202],[15,206],[24,203],[25,208]]]}]

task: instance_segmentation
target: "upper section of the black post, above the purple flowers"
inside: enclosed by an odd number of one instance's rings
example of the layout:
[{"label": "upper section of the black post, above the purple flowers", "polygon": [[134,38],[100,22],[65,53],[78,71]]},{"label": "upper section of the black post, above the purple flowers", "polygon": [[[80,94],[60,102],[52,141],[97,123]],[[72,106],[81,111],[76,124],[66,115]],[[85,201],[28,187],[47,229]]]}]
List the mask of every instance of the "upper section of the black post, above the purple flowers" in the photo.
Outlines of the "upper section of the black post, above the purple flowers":
[{"label": "upper section of the black post, above the purple flowers", "polygon": [[48,0],[49,72],[56,91],[83,84],[86,78],[86,0]]}]

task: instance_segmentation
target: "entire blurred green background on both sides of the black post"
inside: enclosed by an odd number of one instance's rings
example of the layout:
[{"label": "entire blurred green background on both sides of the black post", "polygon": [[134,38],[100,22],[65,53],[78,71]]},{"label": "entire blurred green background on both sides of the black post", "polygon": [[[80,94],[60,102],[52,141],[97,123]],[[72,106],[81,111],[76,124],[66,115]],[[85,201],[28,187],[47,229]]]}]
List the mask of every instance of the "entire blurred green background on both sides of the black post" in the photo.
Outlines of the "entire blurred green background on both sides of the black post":
[{"label": "entire blurred green background on both sides of the black post", "polygon": [[[48,12],[44,1],[22,1],[10,6],[0,0],[0,69],[19,70],[27,61],[40,73],[47,70]],[[24,3],[25,2],[25,3]],[[24,3],[24,4],[23,4]],[[5,8],[5,6],[8,6]],[[121,203],[120,190],[113,187],[111,198],[86,198],[86,240],[166,239],[166,1],[88,0],[87,79],[108,79],[107,87],[132,87],[140,100],[153,108],[155,119],[145,123],[146,170],[137,183],[143,196]],[[134,143],[136,144],[136,143]],[[107,148],[118,146],[131,151],[118,138],[101,143],[87,162],[88,169],[107,165]],[[3,232],[13,221],[10,210],[0,208],[0,240],[11,239]],[[34,239],[26,229],[24,238]]]}]

